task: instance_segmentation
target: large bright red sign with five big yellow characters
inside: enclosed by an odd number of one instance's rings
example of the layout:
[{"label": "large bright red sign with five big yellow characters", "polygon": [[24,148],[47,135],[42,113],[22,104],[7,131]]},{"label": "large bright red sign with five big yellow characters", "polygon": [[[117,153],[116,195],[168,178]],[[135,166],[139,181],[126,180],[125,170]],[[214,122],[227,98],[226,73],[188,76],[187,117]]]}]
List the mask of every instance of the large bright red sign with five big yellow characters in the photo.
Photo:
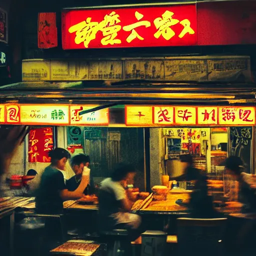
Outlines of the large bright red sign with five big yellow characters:
[{"label": "large bright red sign with five big yellow characters", "polygon": [[196,44],[195,4],[66,10],[63,49]]}]

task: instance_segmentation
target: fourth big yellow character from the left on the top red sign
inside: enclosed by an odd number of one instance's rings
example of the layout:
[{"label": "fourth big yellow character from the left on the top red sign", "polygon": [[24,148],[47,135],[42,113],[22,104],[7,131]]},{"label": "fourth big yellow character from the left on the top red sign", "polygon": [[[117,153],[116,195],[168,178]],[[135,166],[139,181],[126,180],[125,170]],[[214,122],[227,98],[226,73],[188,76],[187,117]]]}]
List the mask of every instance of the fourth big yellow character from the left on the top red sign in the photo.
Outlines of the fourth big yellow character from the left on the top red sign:
[{"label": "fourth big yellow character from the left on the top red sign", "polygon": [[158,29],[154,33],[155,38],[158,39],[160,35],[162,35],[165,40],[169,40],[175,35],[175,32],[170,27],[177,24],[179,20],[172,18],[173,14],[173,12],[166,10],[162,14],[162,17],[157,17],[154,19],[154,25],[156,29]]}]

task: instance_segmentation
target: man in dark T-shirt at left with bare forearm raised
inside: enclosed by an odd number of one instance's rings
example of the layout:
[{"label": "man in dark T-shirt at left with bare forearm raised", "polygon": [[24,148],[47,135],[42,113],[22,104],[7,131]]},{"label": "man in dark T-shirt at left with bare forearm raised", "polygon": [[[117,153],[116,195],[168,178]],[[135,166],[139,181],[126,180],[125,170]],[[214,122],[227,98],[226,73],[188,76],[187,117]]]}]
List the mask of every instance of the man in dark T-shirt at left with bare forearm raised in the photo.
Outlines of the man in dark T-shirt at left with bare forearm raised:
[{"label": "man in dark T-shirt at left with bare forearm raised", "polygon": [[49,152],[51,164],[47,166],[42,175],[36,191],[35,206],[40,213],[61,213],[63,201],[82,197],[88,184],[88,177],[82,175],[79,186],[74,191],[68,191],[64,182],[62,171],[70,154],[63,148],[55,148]]}]

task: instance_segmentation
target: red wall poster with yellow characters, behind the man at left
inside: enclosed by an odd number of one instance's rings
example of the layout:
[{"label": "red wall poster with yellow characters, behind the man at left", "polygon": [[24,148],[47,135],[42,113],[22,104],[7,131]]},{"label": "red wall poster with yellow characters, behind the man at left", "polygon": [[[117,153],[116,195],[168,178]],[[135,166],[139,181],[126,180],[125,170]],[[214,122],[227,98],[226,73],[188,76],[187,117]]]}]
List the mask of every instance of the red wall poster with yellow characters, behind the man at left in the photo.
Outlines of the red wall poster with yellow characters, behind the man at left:
[{"label": "red wall poster with yellow characters, behind the man at left", "polygon": [[33,128],[28,135],[28,161],[50,162],[48,155],[53,149],[53,128]]}]

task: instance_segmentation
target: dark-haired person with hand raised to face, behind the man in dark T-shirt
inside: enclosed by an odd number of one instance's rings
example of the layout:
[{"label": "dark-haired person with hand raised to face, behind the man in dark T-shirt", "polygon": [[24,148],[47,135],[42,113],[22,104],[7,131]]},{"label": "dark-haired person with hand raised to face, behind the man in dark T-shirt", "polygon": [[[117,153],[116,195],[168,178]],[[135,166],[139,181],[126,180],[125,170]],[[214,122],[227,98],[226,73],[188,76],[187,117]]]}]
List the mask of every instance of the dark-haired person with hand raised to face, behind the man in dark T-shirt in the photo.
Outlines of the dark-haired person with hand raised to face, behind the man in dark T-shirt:
[{"label": "dark-haired person with hand raised to face, behind the man in dark T-shirt", "polygon": [[[76,154],[71,158],[71,167],[75,173],[74,176],[66,180],[66,188],[69,191],[74,191],[81,182],[81,176],[83,169],[89,171],[90,158],[86,154]],[[91,173],[89,173],[89,182],[83,192],[84,194],[94,193],[94,182]]]}]

